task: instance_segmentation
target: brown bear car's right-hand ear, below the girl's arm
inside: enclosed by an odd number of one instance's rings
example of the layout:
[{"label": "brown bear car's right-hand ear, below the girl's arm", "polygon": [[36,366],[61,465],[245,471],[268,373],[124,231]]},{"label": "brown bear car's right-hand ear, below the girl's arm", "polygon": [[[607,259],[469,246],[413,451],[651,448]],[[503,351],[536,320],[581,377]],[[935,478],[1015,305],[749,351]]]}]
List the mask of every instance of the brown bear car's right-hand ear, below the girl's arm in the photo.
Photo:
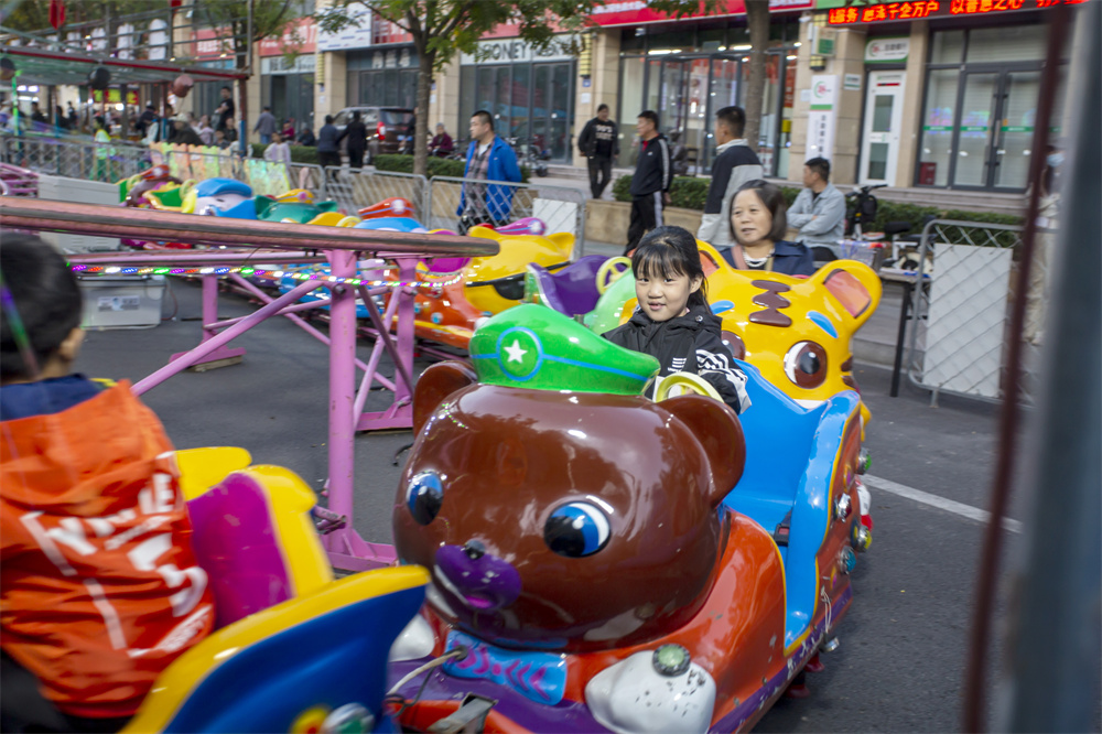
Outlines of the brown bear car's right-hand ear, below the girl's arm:
[{"label": "brown bear car's right-hand ear, below the girl's arm", "polygon": [[700,395],[679,396],[659,404],[684,423],[704,447],[714,485],[709,500],[712,507],[719,507],[738,484],[746,462],[746,441],[738,417],[726,404]]}]

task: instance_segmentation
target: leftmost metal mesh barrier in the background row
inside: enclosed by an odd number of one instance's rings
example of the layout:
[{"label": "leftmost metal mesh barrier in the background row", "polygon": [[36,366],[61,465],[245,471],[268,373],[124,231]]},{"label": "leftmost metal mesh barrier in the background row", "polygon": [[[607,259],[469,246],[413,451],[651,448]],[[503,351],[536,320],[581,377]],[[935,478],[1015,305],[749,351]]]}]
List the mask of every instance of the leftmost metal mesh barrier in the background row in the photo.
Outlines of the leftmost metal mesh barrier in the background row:
[{"label": "leftmost metal mesh barrier in the background row", "polygon": [[0,160],[37,173],[114,183],[150,166],[141,145],[110,142],[63,142],[51,138],[0,138]]}]

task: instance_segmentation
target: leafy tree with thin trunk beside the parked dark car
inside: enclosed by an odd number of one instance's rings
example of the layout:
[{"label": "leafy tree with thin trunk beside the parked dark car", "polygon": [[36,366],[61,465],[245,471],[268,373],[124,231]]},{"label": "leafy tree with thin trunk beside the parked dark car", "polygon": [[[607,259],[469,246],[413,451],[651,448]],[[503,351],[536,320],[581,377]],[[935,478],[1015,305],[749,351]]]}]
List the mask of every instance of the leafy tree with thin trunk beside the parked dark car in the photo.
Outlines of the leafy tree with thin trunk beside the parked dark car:
[{"label": "leafy tree with thin trunk beside the parked dark car", "polygon": [[[414,140],[429,134],[429,94],[436,73],[456,52],[474,53],[484,33],[504,23],[515,23],[522,40],[545,48],[558,30],[577,28],[586,21],[597,0],[334,0],[314,15],[318,31],[336,33],[358,25],[352,6],[364,4],[410,34],[420,62],[417,85]],[[424,175],[428,149],[413,147],[413,172]]]}]

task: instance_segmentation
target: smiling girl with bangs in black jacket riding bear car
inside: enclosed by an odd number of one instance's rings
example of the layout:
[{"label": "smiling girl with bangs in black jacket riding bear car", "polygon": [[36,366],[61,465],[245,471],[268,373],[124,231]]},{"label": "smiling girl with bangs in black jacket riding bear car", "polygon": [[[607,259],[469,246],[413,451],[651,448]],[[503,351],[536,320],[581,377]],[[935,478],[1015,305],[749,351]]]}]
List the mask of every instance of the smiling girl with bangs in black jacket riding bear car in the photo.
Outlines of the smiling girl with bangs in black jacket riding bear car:
[{"label": "smiling girl with bangs in black jacket riding bear car", "polygon": [[748,408],[746,375],[723,345],[722,321],[707,305],[696,238],[681,227],[651,230],[631,257],[631,272],[639,307],[605,338],[657,358],[660,377],[700,375],[736,413]]}]

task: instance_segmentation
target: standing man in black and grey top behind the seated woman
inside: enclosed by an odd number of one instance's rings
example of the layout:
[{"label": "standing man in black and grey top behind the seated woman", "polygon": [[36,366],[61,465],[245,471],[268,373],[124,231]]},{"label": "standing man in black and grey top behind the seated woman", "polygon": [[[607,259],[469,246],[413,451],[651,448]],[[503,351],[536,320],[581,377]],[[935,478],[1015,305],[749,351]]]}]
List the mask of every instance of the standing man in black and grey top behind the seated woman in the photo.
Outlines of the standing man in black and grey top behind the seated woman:
[{"label": "standing man in black and grey top behind the seated woman", "polygon": [[715,114],[715,142],[719,144],[696,239],[721,253],[734,245],[731,241],[731,202],[735,192],[763,174],[761,161],[743,138],[745,127],[746,114],[742,107],[724,107]]}]

